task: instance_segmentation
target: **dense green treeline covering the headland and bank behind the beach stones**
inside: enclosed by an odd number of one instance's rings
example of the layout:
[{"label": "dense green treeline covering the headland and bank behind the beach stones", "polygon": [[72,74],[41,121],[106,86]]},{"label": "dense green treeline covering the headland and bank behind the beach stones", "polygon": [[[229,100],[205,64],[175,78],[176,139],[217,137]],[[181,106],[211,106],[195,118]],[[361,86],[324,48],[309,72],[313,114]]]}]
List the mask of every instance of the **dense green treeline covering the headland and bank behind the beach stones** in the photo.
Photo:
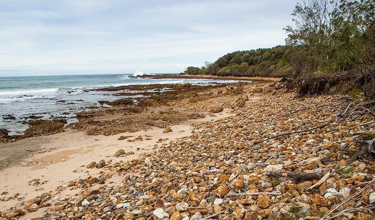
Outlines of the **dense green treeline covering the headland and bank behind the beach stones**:
[{"label": "dense green treeline covering the headland and bank behind the beach stones", "polygon": [[375,98],[374,0],[301,0],[292,16],[285,46],[228,53],[185,73],[286,76],[296,82],[340,77]]}]

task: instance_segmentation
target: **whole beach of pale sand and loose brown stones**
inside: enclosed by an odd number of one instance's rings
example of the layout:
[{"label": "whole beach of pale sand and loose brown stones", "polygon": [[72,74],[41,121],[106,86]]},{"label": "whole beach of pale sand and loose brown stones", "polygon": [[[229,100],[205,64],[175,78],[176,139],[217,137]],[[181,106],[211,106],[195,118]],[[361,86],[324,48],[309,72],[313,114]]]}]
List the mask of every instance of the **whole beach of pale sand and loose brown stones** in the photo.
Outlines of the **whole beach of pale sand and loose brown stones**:
[{"label": "whole beach of pale sand and loose brown stones", "polygon": [[[336,204],[342,215],[357,219],[374,214],[371,209],[344,210],[375,202],[375,163],[356,142],[358,133],[372,131],[373,114],[360,113],[359,104],[347,96],[298,98],[282,83],[244,84],[238,93],[234,86],[225,94],[212,88],[198,92],[195,100],[188,96],[167,102],[163,108],[180,110],[176,115],[185,108],[208,114],[170,124],[172,132],[164,133],[163,126],[108,136],[68,130],[22,140],[30,146],[31,140],[43,143],[45,152],[25,158],[27,166],[0,172],[7,180],[1,188],[9,190],[0,197],[0,215],[34,220],[320,219],[336,215]],[[232,108],[208,112],[217,106]],[[147,110],[160,117],[163,108]],[[106,117],[93,115],[91,120],[119,115],[117,110],[101,113]],[[88,168],[93,161],[97,167]],[[313,178],[283,176],[289,173]]]}]

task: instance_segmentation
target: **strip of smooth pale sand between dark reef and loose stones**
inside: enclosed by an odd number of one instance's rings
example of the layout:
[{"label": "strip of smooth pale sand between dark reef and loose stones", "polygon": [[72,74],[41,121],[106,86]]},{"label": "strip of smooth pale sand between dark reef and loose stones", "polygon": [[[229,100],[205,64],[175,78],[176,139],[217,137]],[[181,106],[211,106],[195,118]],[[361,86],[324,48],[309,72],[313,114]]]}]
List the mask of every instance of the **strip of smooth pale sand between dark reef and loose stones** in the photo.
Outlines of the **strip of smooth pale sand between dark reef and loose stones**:
[{"label": "strip of smooth pale sand between dark reef and loose stones", "polygon": [[[216,120],[230,115],[229,110],[225,109],[214,116],[172,126],[173,132],[169,133],[163,133],[163,129],[154,128],[149,131],[121,133],[113,136],[87,136],[84,132],[68,130],[50,136],[22,140],[22,142],[18,142],[18,147],[22,146],[24,150],[35,148],[37,152],[42,153],[29,156],[22,166],[11,166],[0,171],[0,193],[7,192],[6,195],[2,195],[0,198],[13,197],[15,194],[19,194],[21,195],[19,197],[22,197],[20,199],[12,198],[8,201],[0,201],[0,211],[15,206],[20,200],[27,201],[43,193],[55,195],[55,189],[67,184],[70,180],[86,178],[88,175],[99,176],[100,169],[86,168],[86,165],[92,161],[99,162],[104,159],[106,163],[114,163],[120,160],[133,159],[141,153],[152,151],[162,144],[168,144],[170,140],[190,135],[192,132],[191,123]],[[134,140],[139,135],[143,137],[142,141],[127,141],[128,139]],[[132,137],[125,140],[117,140],[120,136]],[[160,138],[164,141],[159,141],[158,143]],[[120,149],[123,149],[126,153],[132,151],[134,154],[126,157],[113,156]],[[8,154],[11,154],[11,151],[8,151]],[[79,172],[73,172],[77,170]],[[29,185],[29,182],[33,182],[33,179],[39,180],[36,184]],[[121,180],[121,178],[114,176],[106,184],[119,184]],[[64,190],[56,196],[62,198],[65,195],[72,196],[78,192],[79,190]],[[41,208],[37,212],[27,213],[22,219],[40,217],[44,210],[45,208]]]}]

